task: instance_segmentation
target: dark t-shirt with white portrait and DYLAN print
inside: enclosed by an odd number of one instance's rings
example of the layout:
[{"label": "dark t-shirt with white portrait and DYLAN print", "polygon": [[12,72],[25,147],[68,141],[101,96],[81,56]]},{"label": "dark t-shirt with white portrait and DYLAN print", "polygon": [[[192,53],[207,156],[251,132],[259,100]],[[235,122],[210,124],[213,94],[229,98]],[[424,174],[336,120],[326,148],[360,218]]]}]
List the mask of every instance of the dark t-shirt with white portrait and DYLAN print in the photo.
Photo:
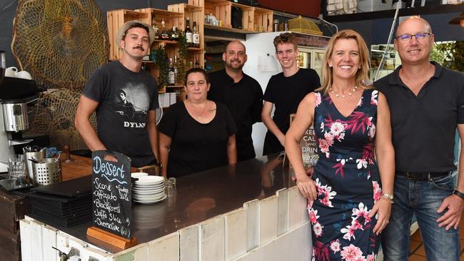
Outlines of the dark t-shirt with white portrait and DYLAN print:
[{"label": "dark t-shirt with white portrait and DYLAN print", "polygon": [[132,167],[154,160],[146,126],[148,111],[158,108],[158,88],[151,75],[111,61],[96,69],[82,94],[99,102],[97,133],[107,149],[127,155]]}]

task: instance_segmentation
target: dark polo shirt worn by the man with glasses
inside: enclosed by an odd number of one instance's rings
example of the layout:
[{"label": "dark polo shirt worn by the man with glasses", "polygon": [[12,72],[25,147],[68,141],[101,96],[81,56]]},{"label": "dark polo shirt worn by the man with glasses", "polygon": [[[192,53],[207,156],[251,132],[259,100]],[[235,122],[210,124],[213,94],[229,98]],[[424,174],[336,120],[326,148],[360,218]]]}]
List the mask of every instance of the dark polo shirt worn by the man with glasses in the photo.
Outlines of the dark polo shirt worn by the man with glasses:
[{"label": "dark polo shirt worn by the man with glasses", "polygon": [[435,65],[418,96],[399,77],[400,67],[374,83],[391,113],[395,165],[414,173],[455,170],[454,138],[464,123],[464,74]]}]

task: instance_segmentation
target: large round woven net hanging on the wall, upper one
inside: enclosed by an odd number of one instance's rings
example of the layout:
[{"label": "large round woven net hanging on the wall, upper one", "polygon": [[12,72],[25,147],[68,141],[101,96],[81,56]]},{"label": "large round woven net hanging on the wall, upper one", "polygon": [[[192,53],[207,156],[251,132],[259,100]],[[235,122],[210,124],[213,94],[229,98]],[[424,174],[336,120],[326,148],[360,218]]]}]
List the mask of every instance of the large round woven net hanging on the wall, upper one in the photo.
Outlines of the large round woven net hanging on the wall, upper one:
[{"label": "large round woven net hanging on the wall, upper one", "polygon": [[94,0],[19,0],[11,50],[47,88],[83,88],[108,58],[106,22]]}]

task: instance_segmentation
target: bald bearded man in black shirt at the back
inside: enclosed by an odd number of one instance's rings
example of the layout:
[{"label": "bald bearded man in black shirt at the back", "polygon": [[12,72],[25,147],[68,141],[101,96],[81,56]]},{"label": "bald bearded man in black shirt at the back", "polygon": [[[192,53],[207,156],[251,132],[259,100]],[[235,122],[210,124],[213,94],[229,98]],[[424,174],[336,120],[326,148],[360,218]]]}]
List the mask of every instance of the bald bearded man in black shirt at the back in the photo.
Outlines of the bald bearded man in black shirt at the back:
[{"label": "bald bearded man in black shirt at the back", "polygon": [[226,104],[238,131],[236,133],[237,160],[255,158],[251,139],[253,123],[261,121],[263,90],[258,81],[243,73],[246,48],[240,41],[231,41],[222,55],[226,68],[209,74],[211,88],[208,99]]}]

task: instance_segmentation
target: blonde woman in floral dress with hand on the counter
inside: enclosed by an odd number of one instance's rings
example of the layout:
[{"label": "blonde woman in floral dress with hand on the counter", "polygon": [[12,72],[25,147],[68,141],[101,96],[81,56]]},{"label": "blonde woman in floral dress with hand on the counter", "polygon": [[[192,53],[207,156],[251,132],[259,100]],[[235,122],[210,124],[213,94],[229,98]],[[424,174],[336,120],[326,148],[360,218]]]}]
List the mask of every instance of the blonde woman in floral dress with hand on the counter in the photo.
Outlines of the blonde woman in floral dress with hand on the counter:
[{"label": "blonde woman in floral dress with hand on the counter", "polygon": [[[300,103],[285,143],[308,199],[313,260],[375,260],[393,203],[390,111],[365,84],[368,48],[358,33],[334,35],[323,65],[323,86]],[[308,176],[299,142],[313,123],[319,160]]]}]

